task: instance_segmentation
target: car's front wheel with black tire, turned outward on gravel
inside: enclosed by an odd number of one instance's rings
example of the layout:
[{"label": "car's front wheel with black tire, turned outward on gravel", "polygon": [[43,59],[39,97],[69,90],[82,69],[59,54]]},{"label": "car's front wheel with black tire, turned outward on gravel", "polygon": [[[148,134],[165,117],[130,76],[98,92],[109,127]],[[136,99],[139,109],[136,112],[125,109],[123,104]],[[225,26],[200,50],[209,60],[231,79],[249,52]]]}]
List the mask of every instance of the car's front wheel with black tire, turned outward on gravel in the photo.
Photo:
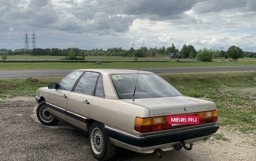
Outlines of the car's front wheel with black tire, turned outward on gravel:
[{"label": "car's front wheel with black tire, turned outward on gravel", "polygon": [[55,125],[58,123],[58,119],[54,118],[51,113],[49,113],[45,101],[39,103],[36,108],[36,117],[43,123],[43,125]]}]

